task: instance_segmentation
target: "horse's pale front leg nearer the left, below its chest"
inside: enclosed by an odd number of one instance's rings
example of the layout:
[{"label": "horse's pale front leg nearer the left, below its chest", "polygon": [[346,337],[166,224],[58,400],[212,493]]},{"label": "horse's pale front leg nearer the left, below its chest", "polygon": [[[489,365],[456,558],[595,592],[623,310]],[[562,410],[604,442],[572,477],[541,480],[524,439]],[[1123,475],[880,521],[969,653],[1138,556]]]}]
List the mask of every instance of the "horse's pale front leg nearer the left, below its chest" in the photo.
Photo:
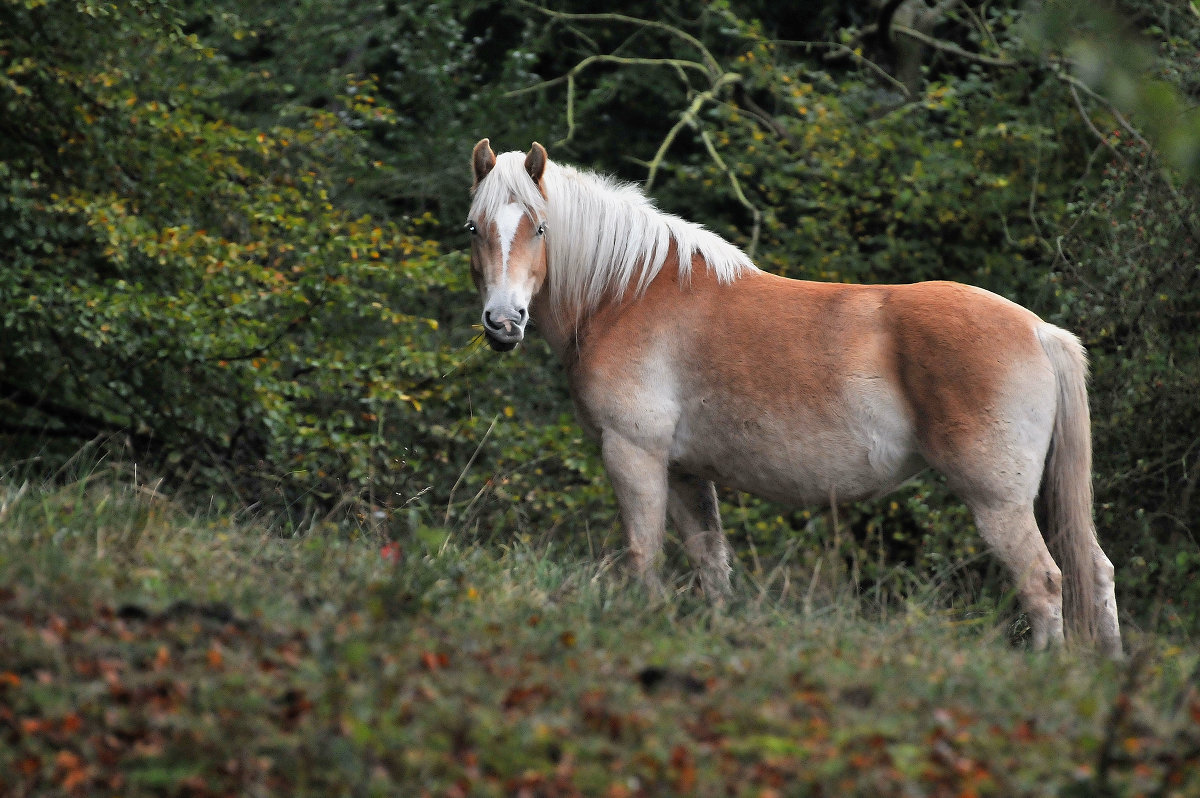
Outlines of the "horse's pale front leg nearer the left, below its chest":
[{"label": "horse's pale front leg nearer the left, below its chest", "polygon": [[601,451],[625,524],[634,572],[652,594],[666,595],[658,565],[667,509],[666,449],[648,448],[605,430]]}]

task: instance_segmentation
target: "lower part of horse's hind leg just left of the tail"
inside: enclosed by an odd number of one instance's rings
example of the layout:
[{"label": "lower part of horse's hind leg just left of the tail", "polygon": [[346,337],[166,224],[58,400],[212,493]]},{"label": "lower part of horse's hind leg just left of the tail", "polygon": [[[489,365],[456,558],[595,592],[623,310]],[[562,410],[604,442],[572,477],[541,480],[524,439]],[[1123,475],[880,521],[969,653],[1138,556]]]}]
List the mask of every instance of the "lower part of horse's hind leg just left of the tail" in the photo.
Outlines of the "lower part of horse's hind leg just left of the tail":
[{"label": "lower part of horse's hind leg just left of the tail", "polygon": [[1032,646],[1062,647],[1062,571],[1050,556],[1033,515],[1033,505],[972,504],[976,527],[1016,584],[1021,608],[1030,620]]}]

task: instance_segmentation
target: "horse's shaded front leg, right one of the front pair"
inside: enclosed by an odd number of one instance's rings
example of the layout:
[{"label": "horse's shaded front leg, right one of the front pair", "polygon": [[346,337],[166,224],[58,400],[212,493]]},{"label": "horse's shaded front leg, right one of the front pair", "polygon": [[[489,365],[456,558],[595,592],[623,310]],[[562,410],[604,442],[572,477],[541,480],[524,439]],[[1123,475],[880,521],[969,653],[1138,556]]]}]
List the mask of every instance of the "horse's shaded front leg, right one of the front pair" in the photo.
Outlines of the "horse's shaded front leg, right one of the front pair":
[{"label": "horse's shaded front leg, right one of the front pair", "polygon": [[730,587],[730,545],[721,529],[716,488],[706,479],[671,472],[667,514],[683,538],[688,558],[700,578],[704,595],[714,600],[727,596]]}]

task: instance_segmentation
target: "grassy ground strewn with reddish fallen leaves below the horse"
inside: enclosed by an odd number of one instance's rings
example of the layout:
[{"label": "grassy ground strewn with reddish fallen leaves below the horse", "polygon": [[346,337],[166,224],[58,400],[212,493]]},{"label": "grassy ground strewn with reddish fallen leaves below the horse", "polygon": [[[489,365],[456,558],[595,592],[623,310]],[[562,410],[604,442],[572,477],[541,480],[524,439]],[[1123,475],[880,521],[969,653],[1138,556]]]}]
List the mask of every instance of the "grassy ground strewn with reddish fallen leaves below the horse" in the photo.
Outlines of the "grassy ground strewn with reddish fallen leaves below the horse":
[{"label": "grassy ground strewn with reddish fallen leaves below the horse", "polygon": [[0,794],[1200,794],[1188,641],[1031,654],[799,569],[655,605],[560,550],[0,482]]}]

